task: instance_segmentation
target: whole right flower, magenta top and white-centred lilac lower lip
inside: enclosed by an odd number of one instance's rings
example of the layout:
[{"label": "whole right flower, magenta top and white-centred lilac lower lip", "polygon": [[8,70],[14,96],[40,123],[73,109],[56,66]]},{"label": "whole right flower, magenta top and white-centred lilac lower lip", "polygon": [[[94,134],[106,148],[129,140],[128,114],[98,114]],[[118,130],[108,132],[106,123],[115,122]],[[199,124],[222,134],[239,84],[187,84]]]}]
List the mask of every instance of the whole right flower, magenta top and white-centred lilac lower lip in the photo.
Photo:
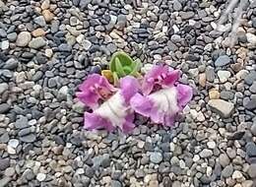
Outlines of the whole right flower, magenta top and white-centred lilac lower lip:
[{"label": "whole right flower, magenta top and white-centred lilac lower lip", "polygon": [[176,114],[192,98],[192,89],[186,85],[175,84],[179,71],[166,66],[154,67],[143,81],[143,93],[135,94],[130,104],[132,108],[155,123],[171,126]]}]

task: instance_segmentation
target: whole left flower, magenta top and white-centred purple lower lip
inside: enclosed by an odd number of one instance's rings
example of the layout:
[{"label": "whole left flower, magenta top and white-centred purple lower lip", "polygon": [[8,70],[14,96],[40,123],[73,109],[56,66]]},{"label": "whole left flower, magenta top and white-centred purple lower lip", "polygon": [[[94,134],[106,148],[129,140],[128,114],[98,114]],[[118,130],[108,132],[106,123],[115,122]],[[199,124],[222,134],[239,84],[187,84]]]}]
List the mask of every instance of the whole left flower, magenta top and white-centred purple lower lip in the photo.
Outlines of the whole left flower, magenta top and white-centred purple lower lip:
[{"label": "whole left flower, magenta top and white-centred purple lower lip", "polygon": [[[139,91],[138,81],[127,76],[120,80],[120,89],[113,88],[99,75],[92,75],[79,87],[78,98],[94,109],[85,112],[84,127],[88,130],[105,128],[113,131],[116,127],[123,132],[131,131],[135,125],[134,110],[130,98]],[[103,102],[98,104],[99,99]]]}]

